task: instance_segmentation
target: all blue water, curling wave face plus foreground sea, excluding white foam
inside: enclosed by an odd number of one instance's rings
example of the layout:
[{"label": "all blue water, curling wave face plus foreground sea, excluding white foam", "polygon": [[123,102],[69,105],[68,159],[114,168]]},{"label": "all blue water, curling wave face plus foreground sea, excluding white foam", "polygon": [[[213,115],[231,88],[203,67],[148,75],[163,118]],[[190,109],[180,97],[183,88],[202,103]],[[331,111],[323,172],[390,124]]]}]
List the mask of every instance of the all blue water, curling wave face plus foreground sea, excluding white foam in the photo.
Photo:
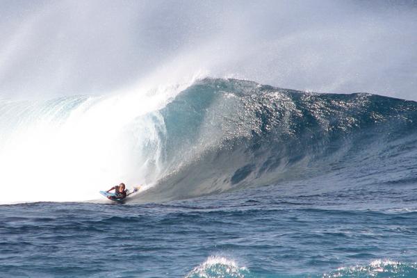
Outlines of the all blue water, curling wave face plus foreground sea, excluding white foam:
[{"label": "all blue water, curling wave face plus foreground sea, excluding white foam", "polygon": [[0,206],[1,277],[417,277],[417,103],[205,79],[144,121],[154,186]]}]

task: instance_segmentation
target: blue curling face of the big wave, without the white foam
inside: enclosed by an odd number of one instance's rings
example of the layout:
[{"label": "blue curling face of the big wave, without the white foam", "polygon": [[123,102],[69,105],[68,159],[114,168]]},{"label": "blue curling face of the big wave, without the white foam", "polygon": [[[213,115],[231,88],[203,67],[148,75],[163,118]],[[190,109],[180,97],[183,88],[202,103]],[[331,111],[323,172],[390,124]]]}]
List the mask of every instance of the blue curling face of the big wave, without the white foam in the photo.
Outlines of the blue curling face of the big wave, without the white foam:
[{"label": "blue curling face of the big wave, without the white foam", "polygon": [[166,172],[142,195],[147,201],[275,184],[371,162],[373,171],[382,171],[386,161],[401,167],[407,157],[416,164],[414,101],[204,79],[158,115]]}]

